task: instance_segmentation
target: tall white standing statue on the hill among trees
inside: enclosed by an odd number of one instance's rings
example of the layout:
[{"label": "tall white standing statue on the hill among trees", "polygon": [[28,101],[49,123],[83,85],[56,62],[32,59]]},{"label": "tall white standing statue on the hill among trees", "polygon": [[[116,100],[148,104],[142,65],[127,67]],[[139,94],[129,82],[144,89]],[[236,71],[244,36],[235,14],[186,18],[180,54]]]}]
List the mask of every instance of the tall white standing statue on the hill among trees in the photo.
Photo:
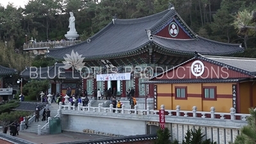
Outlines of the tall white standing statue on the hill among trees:
[{"label": "tall white standing statue on the hill among trees", "polygon": [[76,38],[79,37],[79,35],[77,35],[76,28],[75,28],[75,20],[76,20],[76,18],[74,17],[74,13],[73,12],[69,12],[69,14],[70,14],[70,17],[68,19],[69,20],[69,25],[68,25],[69,31],[67,32],[65,37],[68,40],[76,40]]}]

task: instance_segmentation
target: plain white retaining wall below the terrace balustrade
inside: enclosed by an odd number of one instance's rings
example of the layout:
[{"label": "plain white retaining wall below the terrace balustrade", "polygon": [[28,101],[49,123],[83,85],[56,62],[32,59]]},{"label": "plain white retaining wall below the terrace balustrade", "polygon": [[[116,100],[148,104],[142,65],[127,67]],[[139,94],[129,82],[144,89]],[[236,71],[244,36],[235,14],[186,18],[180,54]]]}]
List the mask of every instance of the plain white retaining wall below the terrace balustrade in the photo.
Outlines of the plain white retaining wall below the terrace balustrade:
[{"label": "plain white retaining wall below the terrace balustrade", "polygon": [[71,130],[76,132],[83,132],[84,129],[92,129],[94,131],[106,132],[118,135],[136,135],[145,134],[145,121],[115,119],[115,118],[100,118],[93,116],[80,115],[63,115],[61,120],[63,122],[63,130]]}]

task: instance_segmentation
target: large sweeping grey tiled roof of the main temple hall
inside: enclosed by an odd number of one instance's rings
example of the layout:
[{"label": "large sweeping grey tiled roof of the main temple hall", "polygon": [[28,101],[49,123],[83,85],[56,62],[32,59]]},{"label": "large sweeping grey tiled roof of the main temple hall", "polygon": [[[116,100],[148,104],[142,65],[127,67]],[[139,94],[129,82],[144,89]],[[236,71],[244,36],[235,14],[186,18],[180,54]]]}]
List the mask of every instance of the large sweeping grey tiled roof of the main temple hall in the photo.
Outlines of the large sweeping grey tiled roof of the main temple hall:
[{"label": "large sweeping grey tiled roof of the main temple hall", "polygon": [[[173,39],[156,34],[172,20],[179,23],[190,39]],[[139,19],[113,19],[105,28],[81,42],[60,49],[49,49],[47,56],[63,60],[72,50],[83,55],[85,61],[106,60],[135,56],[147,52],[147,45],[153,44],[154,51],[163,54],[193,56],[195,51],[205,55],[230,56],[243,52],[240,44],[226,44],[208,40],[196,35],[174,10],[165,10]]]}]

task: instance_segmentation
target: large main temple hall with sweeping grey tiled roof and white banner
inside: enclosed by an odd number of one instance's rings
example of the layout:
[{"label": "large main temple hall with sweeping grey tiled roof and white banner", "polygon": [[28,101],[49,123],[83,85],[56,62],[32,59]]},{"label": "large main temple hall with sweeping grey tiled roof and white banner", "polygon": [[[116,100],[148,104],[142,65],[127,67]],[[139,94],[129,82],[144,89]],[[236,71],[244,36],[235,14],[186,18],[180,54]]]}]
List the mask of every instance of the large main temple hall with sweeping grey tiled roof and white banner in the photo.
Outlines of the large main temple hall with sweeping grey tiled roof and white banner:
[{"label": "large main temple hall with sweeping grey tiled roof and white banner", "polygon": [[83,88],[116,88],[118,97],[133,87],[135,97],[154,97],[154,84],[141,84],[195,55],[232,56],[243,52],[240,44],[225,44],[196,35],[170,6],[139,19],[117,19],[86,41],[49,49],[47,56],[63,60],[72,51],[82,55]]}]

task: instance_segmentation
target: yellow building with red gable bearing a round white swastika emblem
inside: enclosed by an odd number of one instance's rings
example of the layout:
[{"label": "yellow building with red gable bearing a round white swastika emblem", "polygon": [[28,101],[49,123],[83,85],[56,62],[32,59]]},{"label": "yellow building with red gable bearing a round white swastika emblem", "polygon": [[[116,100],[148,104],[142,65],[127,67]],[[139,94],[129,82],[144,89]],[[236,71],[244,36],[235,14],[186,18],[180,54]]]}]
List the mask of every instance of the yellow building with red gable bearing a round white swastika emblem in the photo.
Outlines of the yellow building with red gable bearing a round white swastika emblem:
[{"label": "yellow building with red gable bearing a round white swastika emblem", "polygon": [[155,84],[155,108],[249,113],[256,106],[256,59],[196,54],[145,84]]}]

